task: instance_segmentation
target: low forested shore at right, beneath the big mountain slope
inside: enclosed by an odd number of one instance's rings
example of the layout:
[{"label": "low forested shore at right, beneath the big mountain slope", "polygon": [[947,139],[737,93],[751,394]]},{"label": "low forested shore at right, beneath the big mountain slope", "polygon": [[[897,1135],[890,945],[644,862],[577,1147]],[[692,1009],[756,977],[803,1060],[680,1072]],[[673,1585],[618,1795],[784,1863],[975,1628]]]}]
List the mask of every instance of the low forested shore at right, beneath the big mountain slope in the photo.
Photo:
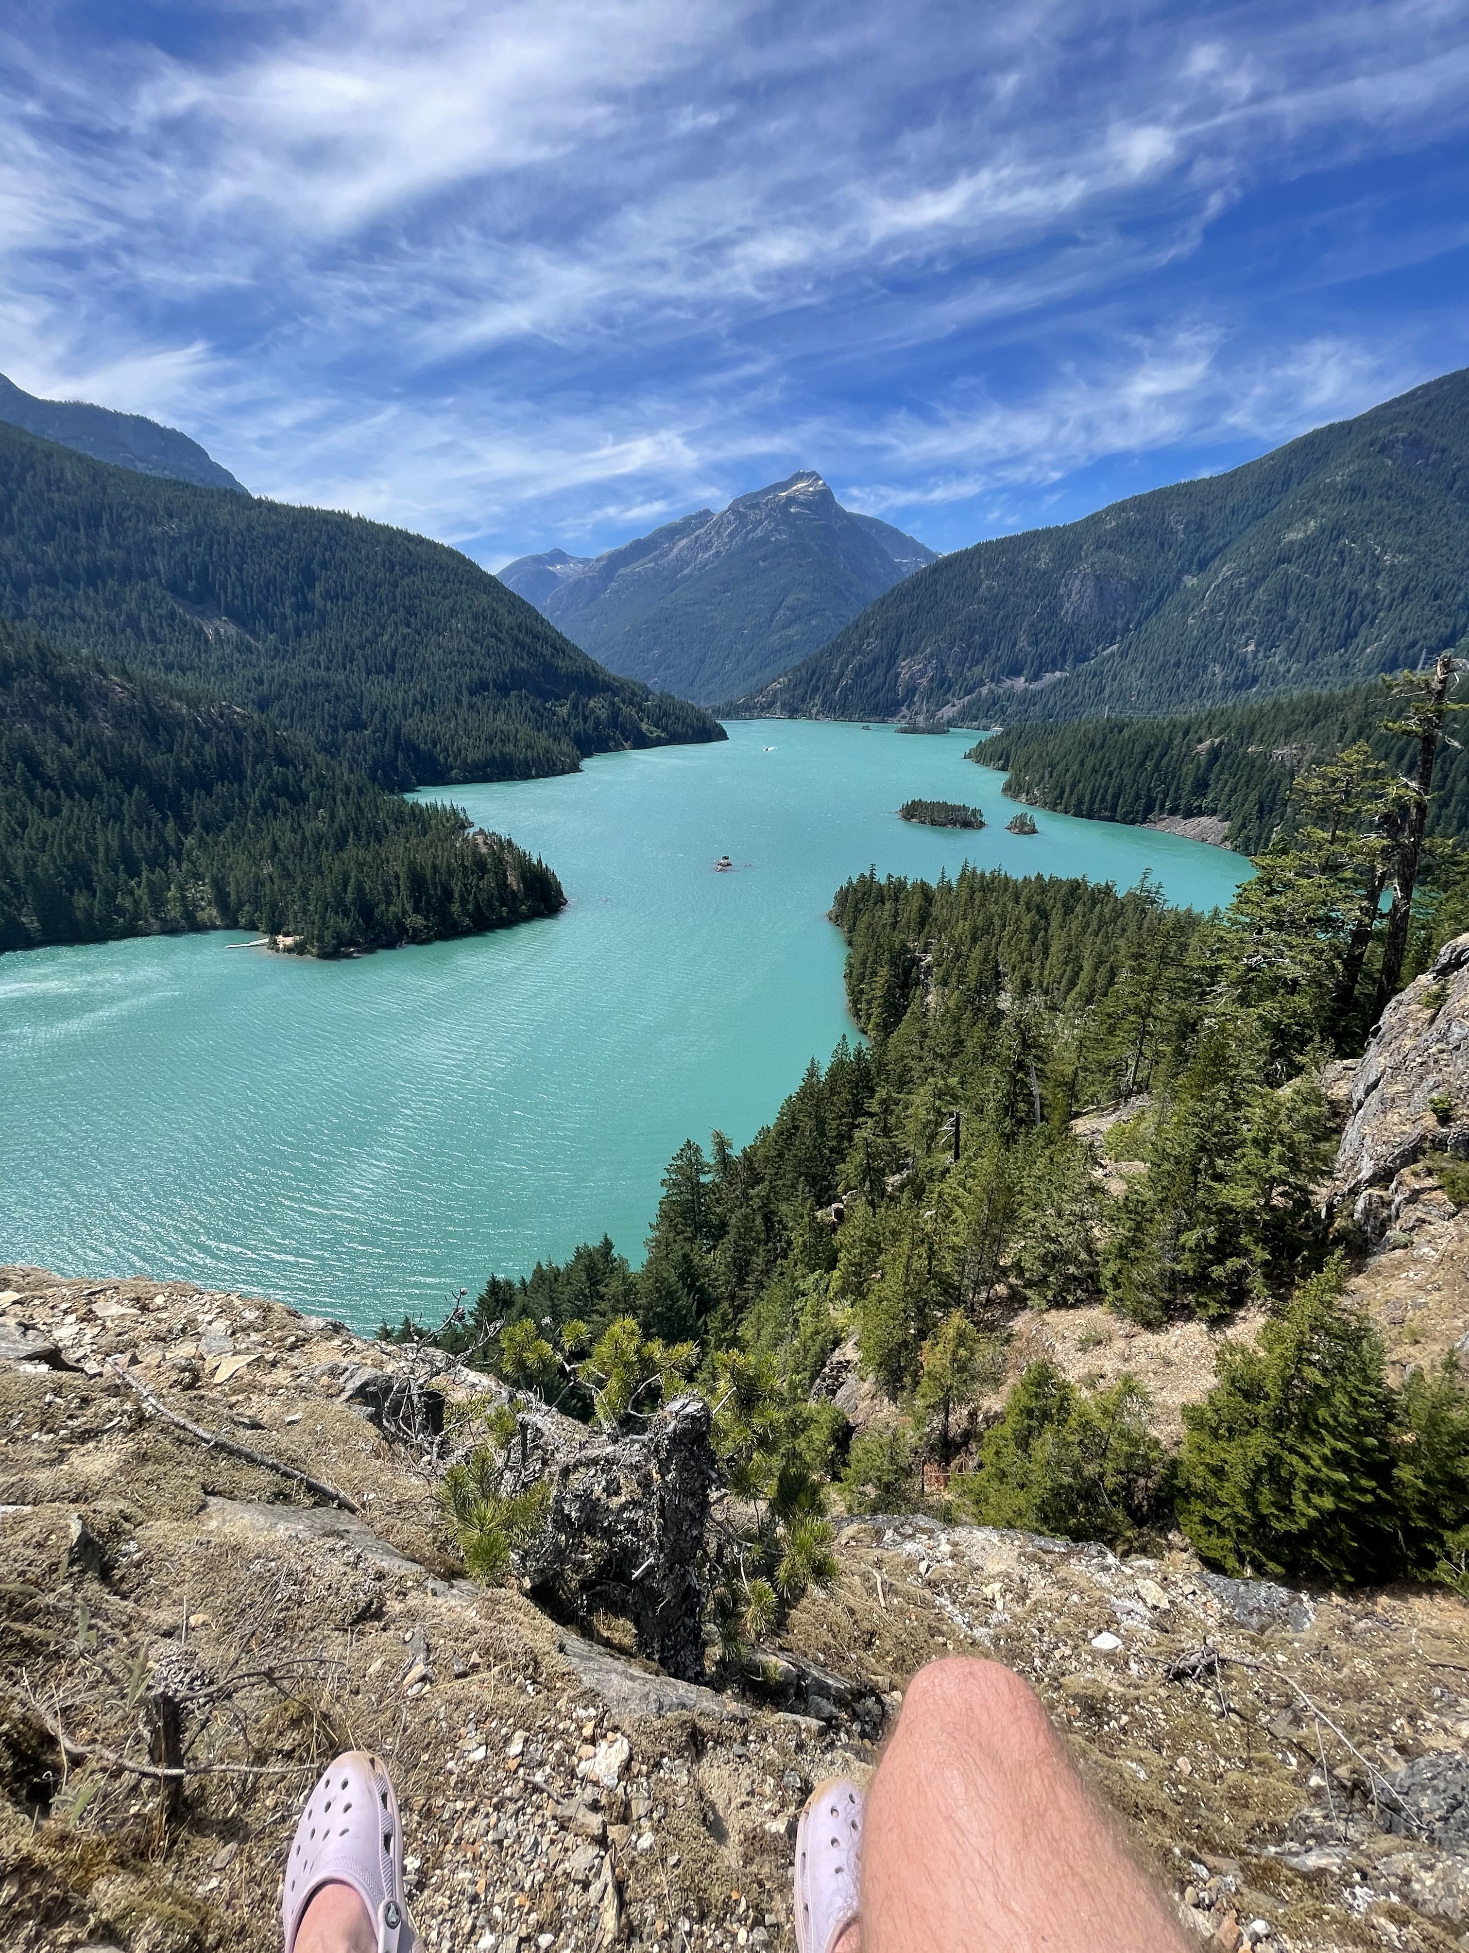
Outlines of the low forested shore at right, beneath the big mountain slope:
[{"label": "low forested shore at right, beneath the big mountain slope", "polygon": [[[1215,814],[1229,846],[1258,853],[1285,818],[1291,781],[1356,740],[1406,769],[1412,742],[1383,732],[1381,686],[1297,693],[1256,705],[1211,705],[1168,719],[1082,719],[1012,727],[973,748],[1008,768],[1004,791],[1031,807],[1141,824]],[[1430,834],[1469,834],[1469,762],[1444,744],[1428,809]]]}]

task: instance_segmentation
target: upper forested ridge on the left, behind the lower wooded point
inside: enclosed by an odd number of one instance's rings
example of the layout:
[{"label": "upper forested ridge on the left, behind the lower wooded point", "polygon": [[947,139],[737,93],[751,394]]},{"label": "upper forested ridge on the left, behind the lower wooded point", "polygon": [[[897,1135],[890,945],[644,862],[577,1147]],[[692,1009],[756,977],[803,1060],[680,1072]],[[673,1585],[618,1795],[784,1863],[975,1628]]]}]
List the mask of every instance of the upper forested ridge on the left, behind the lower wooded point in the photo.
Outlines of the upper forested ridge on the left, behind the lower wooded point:
[{"label": "upper forested ridge on the left, behind the lower wooded point", "polygon": [[723,738],[441,543],[154,480],[0,426],[0,615],[266,713],[379,785]]}]

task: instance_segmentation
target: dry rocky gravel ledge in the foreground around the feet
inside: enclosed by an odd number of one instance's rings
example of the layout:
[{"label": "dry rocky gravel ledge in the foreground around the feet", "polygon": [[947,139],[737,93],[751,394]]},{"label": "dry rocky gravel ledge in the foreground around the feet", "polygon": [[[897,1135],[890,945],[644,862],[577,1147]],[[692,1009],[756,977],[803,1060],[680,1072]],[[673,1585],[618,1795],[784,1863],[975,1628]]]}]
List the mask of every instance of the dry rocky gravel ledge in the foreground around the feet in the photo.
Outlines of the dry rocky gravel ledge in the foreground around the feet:
[{"label": "dry rocky gravel ledge in the foreground around the feet", "polygon": [[[484,1383],[408,1381],[430,1422]],[[785,1953],[807,1789],[861,1781],[945,1652],[1035,1683],[1201,1947],[1469,1943],[1451,1594],[842,1521],[762,1691],[721,1693],[621,1621],[469,1584],[402,1391],[389,1351],[275,1303],[0,1269],[10,1947],[275,1947],[299,1803],[359,1744],[434,1953]]]}]

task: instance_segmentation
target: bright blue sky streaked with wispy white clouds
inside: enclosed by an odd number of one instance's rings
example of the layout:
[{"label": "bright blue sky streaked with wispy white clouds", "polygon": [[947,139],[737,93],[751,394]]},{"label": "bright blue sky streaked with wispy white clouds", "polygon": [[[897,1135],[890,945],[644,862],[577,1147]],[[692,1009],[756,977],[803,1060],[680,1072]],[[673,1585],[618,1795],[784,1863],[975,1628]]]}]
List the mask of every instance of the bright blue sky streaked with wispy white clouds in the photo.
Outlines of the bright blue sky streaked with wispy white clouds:
[{"label": "bright blue sky streaked with wispy white clouds", "polygon": [[1467,123],[1461,0],[27,0],[0,371],[490,566],[957,549],[1469,363]]}]

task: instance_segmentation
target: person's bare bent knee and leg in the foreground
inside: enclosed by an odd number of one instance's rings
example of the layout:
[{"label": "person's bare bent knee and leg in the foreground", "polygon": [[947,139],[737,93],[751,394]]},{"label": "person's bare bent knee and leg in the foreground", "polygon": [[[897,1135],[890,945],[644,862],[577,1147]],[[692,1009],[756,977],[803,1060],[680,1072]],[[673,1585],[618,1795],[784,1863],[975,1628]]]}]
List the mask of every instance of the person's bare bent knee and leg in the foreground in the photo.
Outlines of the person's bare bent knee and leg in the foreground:
[{"label": "person's bare bent knee and leg in the foreground", "polygon": [[996,1662],[908,1683],[861,1826],[861,1914],[832,1953],[1182,1953],[1166,1904]]}]

